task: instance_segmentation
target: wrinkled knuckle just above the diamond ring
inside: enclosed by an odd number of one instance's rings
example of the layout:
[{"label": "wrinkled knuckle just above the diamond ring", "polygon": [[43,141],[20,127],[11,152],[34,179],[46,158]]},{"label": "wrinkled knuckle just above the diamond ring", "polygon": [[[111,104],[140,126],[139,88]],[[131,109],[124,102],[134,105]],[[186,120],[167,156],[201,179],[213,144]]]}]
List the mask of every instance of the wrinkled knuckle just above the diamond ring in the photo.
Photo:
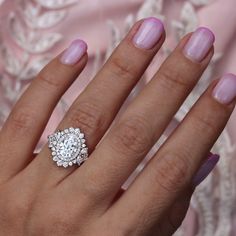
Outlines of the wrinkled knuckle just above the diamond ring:
[{"label": "wrinkled knuckle just above the diamond ring", "polygon": [[87,135],[102,133],[106,122],[106,114],[97,105],[86,102],[74,104],[67,113],[69,124],[80,127]]}]

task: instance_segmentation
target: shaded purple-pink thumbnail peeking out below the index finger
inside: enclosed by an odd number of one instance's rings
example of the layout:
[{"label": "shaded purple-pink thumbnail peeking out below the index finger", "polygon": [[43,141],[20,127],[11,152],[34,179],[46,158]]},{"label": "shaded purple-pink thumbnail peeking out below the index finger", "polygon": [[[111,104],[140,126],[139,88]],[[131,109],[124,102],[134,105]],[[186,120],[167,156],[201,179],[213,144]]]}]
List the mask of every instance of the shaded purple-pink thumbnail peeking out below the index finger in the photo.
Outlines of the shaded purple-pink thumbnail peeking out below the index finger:
[{"label": "shaded purple-pink thumbnail peeking out below the index finger", "polygon": [[215,168],[220,156],[217,154],[210,154],[205,163],[200,167],[197,174],[193,178],[193,185],[197,187]]}]

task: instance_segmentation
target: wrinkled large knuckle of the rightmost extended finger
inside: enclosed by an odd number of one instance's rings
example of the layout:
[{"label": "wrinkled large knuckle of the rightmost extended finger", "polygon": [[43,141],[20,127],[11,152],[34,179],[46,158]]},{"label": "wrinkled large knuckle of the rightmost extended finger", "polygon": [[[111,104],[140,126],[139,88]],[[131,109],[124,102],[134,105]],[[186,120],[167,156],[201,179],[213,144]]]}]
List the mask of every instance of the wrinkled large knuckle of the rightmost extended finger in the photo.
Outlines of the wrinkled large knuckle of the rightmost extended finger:
[{"label": "wrinkled large knuckle of the rightmost extended finger", "polygon": [[158,162],[158,168],[154,169],[154,181],[162,190],[168,193],[180,191],[188,181],[189,163],[184,153],[163,154]]}]

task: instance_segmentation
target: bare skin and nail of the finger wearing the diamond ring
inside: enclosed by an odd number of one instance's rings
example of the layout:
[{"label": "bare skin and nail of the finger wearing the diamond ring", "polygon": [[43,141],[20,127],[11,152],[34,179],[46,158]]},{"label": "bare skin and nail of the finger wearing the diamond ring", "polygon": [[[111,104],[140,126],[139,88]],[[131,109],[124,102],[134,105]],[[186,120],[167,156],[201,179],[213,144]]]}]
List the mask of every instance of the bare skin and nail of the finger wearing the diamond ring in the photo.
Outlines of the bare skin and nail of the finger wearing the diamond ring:
[{"label": "bare skin and nail of the finger wearing the diamond ring", "polygon": [[[147,34],[146,39],[142,38],[143,34]],[[137,35],[140,35],[140,40]],[[98,75],[73,103],[59,129],[79,127],[86,135],[86,144],[91,153],[164,38],[164,28],[159,20],[148,18],[136,23]],[[58,183],[74,170],[73,167],[58,168],[47,147],[39,156],[32,163],[32,168],[38,169],[43,165],[41,176],[51,180],[49,184]]]}]

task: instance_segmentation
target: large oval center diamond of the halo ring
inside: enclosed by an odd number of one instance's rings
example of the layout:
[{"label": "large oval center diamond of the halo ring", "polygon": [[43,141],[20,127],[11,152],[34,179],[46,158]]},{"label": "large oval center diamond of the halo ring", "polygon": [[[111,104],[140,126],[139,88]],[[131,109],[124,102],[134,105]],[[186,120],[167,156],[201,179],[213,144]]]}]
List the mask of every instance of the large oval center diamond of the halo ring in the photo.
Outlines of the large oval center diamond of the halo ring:
[{"label": "large oval center diamond of the halo ring", "polygon": [[57,154],[63,160],[72,160],[81,148],[80,140],[74,134],[61,137],[57,143]]}]

